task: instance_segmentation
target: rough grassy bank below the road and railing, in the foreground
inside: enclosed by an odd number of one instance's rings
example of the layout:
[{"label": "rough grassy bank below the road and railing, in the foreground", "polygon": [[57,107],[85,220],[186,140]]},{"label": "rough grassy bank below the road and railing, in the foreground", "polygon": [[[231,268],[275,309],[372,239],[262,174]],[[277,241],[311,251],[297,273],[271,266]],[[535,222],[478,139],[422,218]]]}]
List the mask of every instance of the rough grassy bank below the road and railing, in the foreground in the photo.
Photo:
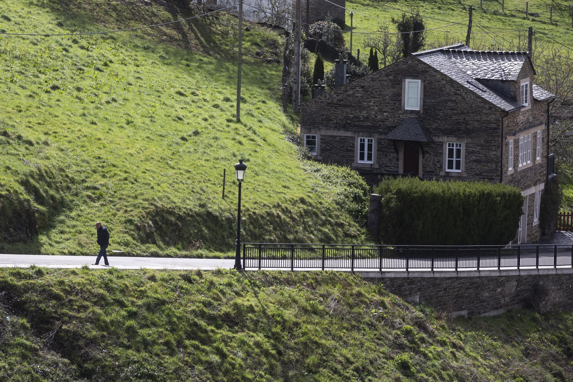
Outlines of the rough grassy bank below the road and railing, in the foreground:
[{"label": "rough grassy bank below the road and railing, in the foreground", "polygon": [[565,381],[573,315],[451,321],[339,272],[0,270],[3,381]]}]

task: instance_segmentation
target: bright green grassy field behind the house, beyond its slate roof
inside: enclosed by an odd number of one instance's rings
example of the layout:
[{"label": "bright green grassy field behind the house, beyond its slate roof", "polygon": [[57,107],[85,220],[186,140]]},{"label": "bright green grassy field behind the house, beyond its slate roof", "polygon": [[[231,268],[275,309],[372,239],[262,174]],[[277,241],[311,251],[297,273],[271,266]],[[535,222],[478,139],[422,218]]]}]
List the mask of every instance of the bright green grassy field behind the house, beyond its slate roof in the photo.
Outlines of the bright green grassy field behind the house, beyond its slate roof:
[{"label": "bright green grassy field behind the house, beyond its slate roof", "polygon": [[[537,29],[573,48],[573,29],[571,28],[571,15],[568,8],[571,2],[567,0],[529,0],[529,18],[525,17],[525,1],[522,0],[505,0],[504,12],[501,11],[501,0],[482,0],[482,7],[480,7],[480,0],[348,0],[346,6],[349,9],[390,21],[390,23],[384,23],[355,13],[354,31],[376,32],[379,25],[387,24],[390,25],[389,32],[396,32],[391,20],[393,17],[401,18],[402,12],[384,5],[406,11],[411,9],[419,10],[419,13],[422,15],[452,22],[467,20],[468,6],[472,5],[474,7],[472,32],[480,32],[472,34],[472,48],[489,48],[494,43],[495,38],[494,45],[496,45],[496,50],[527,49],[527,32],[482,29],[480,25],[506,29],[527,29],[529,26],[532,26],[533,29]],[[553,7],[552,24],[550,24],[550,11],[548,11],[550,7]],[[533,15],[545,10],[547,11],[533,17]],[[451,24],[441,20],[424,18],[426,28],[438,28],[439,26]],[[346,24],[346,29],[350,30],[350,15],[348,15],[348,11]],[[462,24],[467,25],[466,22]],[[443,46],[465,40],[466,38],[467,26],[465,25],[448,26],[443,28],[443,30],[453,32],[427,32],[427,44],[430,46]],[[487,32],[487,34],[483,32]],[[350,33],[345,33],[345,37],[347,45],[349,45]],[[367,54],[362,44],[364,38],[366,38],[366,35],[358,33],[352,37],[354,54],[356,54],[356,49],[360,49],[363,55]],[[537,34],[535,39],[539,40],[539,43],[550,42],[541,34]],[[364,60],[367,59],[367,56],[363,57]]]}]

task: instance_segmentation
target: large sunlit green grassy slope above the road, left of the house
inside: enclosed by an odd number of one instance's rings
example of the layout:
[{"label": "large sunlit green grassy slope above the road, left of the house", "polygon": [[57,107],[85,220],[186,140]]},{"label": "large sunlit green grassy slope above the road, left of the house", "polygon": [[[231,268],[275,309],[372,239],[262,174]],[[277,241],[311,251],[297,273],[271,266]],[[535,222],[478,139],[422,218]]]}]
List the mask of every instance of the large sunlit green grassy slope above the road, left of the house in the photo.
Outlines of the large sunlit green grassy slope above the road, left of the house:
[{"label": "large sunlit green grassy slope above the road, left of the house", "polygon": [[[0,29],[99,31],[204,11],[180,3],[0,2]],[[361,235],[336,204],[344,185],[311,174],[284,138],[294,126],[278,98],[273,30],[247,24],[235,121],[236,25],[222,12],[136,32],[0,37],[0,252],[91,254],[97,220],[111,231],[109,250],[201,256],[202,242],[229,251],[239,158],[249,166],[245,240]]]}]

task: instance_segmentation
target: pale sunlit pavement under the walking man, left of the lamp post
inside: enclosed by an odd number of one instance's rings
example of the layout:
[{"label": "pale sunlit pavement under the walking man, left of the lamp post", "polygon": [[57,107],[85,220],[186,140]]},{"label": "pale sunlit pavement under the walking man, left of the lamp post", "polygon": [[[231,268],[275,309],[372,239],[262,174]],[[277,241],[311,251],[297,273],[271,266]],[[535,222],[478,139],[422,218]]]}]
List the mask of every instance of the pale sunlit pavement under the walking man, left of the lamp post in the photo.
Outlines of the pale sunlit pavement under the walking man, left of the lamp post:
[{"label": "pale sunlit pavement under the walking man, left of the lamp post", "polygon": [[109,266],[92,266],[97,256],[51,256],[51,255],[4,255],[0,254],[0,267],[38,267],[48,268],[81,268],[87,265],[94,269],[180,269],[180,270],[214,270],[233,268],[234,259],[174,259],[174,258],[136,258],[128,256],[108,256]]}]

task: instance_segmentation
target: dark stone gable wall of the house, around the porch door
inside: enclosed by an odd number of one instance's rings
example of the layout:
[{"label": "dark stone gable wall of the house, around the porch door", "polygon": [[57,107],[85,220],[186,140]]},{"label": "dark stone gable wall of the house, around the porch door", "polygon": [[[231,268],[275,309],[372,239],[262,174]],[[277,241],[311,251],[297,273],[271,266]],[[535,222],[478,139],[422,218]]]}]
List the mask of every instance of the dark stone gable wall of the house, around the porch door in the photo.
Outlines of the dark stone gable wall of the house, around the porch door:
[{"label": "dark stone gable wall of the house, around the porch door", "polygon": [[[422,80],[421,110],[404,110],[403,81]],[[301,132],[356,132],[378,137],[376,170],[397,173],[399,153],[384,136],[406,118],[418,118],[433,142],[422,143],[423,178],[499,181],[501,117],[505,113],[448,76],[412,56],[301,105]],[[465,172],[445,173],[444,142],[465,143]],[[324,156],[327,162],[339,155]],[[346,154],[345,154],[346,155]],[[354,153],[356,155],[356,153]],[[382,156],[381,156],[382,155]],[[344,156],[346,158],[346,156]],[[354,158],[353,158],[354,161]],[[349,164],[347,162],[346,164]],[[353,166],[363,171],[362,167]]]}]

